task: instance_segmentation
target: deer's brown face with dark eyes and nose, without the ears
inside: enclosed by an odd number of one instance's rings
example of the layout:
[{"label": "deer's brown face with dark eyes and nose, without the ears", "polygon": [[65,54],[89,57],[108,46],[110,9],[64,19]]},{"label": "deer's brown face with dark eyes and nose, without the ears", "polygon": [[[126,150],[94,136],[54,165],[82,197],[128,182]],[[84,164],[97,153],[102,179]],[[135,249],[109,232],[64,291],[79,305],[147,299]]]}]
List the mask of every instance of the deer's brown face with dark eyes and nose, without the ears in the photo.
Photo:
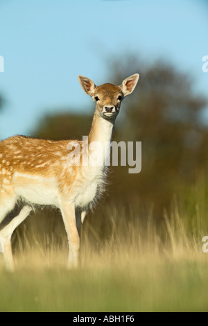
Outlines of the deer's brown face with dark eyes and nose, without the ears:
[{"label": "deer's brown face with dark eyes and nose, without the ears", "polygon": [[94,101],[96,102],[96,111],[104,119],[115,119],[119,114],[121,101],[123,100],[121,87],[104,84],[94,89]]}]

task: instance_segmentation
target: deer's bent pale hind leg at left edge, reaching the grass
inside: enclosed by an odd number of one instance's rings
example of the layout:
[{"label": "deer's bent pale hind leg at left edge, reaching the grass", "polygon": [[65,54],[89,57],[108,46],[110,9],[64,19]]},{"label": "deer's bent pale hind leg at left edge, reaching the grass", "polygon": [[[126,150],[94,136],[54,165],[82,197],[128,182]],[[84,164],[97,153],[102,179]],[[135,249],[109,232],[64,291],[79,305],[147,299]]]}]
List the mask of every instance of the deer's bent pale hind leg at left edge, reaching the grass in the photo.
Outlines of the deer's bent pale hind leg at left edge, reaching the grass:
[{"label": "deer's bent pale hind leg at left edge, reaching the grass", "polygon": [[0,250],[3,252],[3,256],[6,261],[6,266],[8,270],[14,270],[14,261],[12,256],[12,233],[15,231],[17,226],[22,223],[28,214],[30,214],[32,208],[28,205],[24,206],[19,214],[10,221],[1,231],[0,231]]}]

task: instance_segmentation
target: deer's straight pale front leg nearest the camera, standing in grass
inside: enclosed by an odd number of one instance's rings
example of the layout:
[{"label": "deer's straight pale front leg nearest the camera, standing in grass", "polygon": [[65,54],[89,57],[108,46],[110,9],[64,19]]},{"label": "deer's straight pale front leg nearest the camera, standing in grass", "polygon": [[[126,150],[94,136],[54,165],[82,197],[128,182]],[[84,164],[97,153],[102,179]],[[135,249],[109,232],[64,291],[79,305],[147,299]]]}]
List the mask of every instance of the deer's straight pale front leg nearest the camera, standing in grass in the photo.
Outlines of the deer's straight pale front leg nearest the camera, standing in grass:
[{"label": "deer's straight pale front leg nearest the camera, standing in grass", "polygon": [[80,235],[76,225],[75,207],[70,203],[61,203],[62,218],[64,220],[65,229],[69,241],[69,259],[68,268],[78,267],[79,249],[80,249]]}]

